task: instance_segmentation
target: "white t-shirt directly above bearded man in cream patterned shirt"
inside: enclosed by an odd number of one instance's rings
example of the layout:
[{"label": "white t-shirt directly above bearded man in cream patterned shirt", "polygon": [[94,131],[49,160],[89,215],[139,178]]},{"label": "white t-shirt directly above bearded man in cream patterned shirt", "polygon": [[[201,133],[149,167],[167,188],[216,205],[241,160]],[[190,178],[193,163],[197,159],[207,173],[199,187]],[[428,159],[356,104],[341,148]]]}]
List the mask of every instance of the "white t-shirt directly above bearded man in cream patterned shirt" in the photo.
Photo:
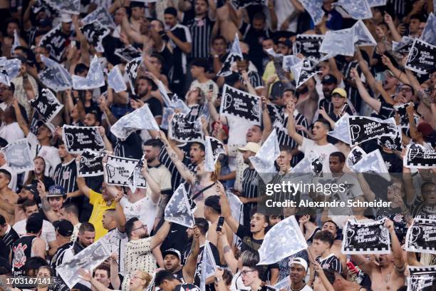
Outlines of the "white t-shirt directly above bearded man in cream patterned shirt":
[{"label": "white t-shirt directly above bearded man in cream patterned shirt", "polygon": [[135,203],[131,203],[128,198],[123,197],[120,200],[120,205],[123,206],[125,220],[130,218],[141,220],[142,223],[147,225],[147,231],[150,234],[155,223],[159,201],[155,204],[150,199],[150,196],[147,196],[137,200]]}]

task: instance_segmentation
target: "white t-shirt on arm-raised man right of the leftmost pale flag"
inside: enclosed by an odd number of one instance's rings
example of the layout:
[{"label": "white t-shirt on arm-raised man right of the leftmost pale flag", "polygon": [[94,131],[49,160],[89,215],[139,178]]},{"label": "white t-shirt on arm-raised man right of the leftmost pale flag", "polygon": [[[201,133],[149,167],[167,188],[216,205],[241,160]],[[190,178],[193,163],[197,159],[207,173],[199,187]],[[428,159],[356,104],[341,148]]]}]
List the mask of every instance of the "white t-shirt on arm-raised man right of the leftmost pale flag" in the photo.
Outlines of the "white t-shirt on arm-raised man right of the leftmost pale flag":
[{"label": "white t-shirt on arm-raised man right of the leftmost pale flag", "polygon": [[28,133],[27,141],[31,144],[31,154],[33,157],[39,155],[46,161],[46,172],[44,174],[53,178],[56,165],[61,163],[58,149],[54,146],[41,146],[33,133]]}]

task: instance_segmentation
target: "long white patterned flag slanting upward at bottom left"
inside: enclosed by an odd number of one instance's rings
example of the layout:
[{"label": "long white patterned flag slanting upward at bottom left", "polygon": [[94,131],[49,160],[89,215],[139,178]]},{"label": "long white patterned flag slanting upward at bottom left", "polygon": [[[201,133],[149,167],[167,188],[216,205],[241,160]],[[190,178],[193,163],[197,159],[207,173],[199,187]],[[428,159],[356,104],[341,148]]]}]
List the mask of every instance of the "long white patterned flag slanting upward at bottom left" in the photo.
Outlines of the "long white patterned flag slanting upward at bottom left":
[{"label": "long white patterned flag slanting upward at bottom left", "polygon": [[88,247],[85,247],[84,250],[81,250],[68,262],[58,265],[56,272],[69,288],[73,288],[74,285],[81,281],[81,277],[78,274],[79,269],[94,270],[95,267],[104,262],[108,257],[110,257],[110,252],[105,243],[102,240],[97,240]]}]

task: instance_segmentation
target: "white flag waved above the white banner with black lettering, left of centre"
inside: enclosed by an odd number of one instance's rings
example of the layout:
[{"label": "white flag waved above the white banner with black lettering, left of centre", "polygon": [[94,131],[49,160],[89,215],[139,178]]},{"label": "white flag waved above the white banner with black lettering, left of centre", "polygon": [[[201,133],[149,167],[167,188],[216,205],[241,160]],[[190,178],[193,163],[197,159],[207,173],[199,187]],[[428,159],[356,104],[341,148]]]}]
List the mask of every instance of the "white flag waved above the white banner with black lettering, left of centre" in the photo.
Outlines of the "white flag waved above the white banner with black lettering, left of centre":
[{"label": "white flag waved above the white banner with black lettering, left of centre", "polygon": [[125,139],[131,133],[142,129],[152,129],[159,131],[159,126],[153,117],[148,104],[144,104],[141,108],[137,108],[132,113],[118,119],[113,126],[110,127],[110,132],[120,139]]}]

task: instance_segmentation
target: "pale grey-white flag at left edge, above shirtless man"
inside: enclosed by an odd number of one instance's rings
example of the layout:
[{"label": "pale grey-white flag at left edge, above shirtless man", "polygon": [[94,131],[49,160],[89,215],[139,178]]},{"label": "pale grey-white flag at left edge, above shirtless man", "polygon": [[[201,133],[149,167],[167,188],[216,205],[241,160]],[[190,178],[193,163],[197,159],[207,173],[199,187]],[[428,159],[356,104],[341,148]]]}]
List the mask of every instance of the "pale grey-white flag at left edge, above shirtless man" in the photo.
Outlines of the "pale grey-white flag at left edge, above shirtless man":
[{"label": "pale grey-white flag at left edge, above shirtless man", "polygon": [[9,166],[17,173],[35,169],[33,155],[31,155],[26,138],[9,143],[1,151],[4,153]]}]

